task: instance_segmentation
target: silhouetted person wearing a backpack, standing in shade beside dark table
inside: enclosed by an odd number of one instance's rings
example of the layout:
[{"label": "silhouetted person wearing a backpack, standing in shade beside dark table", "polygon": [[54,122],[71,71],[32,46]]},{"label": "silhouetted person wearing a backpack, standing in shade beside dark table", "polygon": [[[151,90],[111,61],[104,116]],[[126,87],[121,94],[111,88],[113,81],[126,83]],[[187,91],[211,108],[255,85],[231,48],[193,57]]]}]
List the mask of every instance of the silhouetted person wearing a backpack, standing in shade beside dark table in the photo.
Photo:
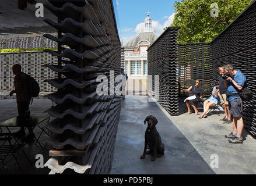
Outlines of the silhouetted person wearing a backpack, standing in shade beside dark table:
[{"label": "silhouetted person wearing a backpack, standing in shade beside dark table", "polygon": [[13,74],[16,75],[14,78],[15,90],[10,91],[9,95],[12,96],[14,93],[16,94],[17,110],[19,113],[19,119],[22,123],[20,130],[15,135],[17,137],[24,137],[24,135],[26,135],[24,127],[26,126],[29,130],[29,134],[25,138],[30,139],[34,137],[34,133],[31,126],[28,126],[25,122],[26,117],[30,117],[28,114],[26,114],[29,113],[29,103],[31,100],[29,94],[29,79],[27,74],[23,73],[21,70],[22,66],[19,64],[13,65],[12,71]]}]

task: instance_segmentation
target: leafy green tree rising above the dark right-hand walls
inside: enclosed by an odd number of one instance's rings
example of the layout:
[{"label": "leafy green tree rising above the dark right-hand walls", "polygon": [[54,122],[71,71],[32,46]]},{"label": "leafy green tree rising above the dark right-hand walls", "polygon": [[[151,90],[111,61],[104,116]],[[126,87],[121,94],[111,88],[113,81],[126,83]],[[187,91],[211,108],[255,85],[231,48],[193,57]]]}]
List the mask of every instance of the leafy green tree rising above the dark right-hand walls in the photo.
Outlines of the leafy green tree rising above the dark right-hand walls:
[{"label": "leafy green tree rising above the dark right-hand walls", "polygon": [[[171,26],[181,27],[177,42],[211,42],[253,0],[182,0],[175,2],[176,15]],[[212,17],[212,3],[219,7],[218,17]]]}]

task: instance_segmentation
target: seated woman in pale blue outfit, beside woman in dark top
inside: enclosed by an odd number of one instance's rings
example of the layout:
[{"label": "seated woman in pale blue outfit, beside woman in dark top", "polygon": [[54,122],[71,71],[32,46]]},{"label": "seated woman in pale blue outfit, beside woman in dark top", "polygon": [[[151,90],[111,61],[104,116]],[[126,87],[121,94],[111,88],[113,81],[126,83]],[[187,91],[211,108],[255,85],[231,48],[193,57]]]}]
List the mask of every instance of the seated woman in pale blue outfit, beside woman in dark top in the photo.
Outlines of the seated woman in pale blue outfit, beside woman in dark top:
[{"label": "seated woman in pale blue outfit, beside woman in dark top", "polygon": [[206,118],[206,113],[208,112],[210,106],[215,106],[220,102],[219,81],[217,82],[217,85],[218,87],[213,87],[211,97],[209,99],[206,99],[206,101],[204,102],[204,113],[202,113],[202,115],[199,116],[199,118]]}]

